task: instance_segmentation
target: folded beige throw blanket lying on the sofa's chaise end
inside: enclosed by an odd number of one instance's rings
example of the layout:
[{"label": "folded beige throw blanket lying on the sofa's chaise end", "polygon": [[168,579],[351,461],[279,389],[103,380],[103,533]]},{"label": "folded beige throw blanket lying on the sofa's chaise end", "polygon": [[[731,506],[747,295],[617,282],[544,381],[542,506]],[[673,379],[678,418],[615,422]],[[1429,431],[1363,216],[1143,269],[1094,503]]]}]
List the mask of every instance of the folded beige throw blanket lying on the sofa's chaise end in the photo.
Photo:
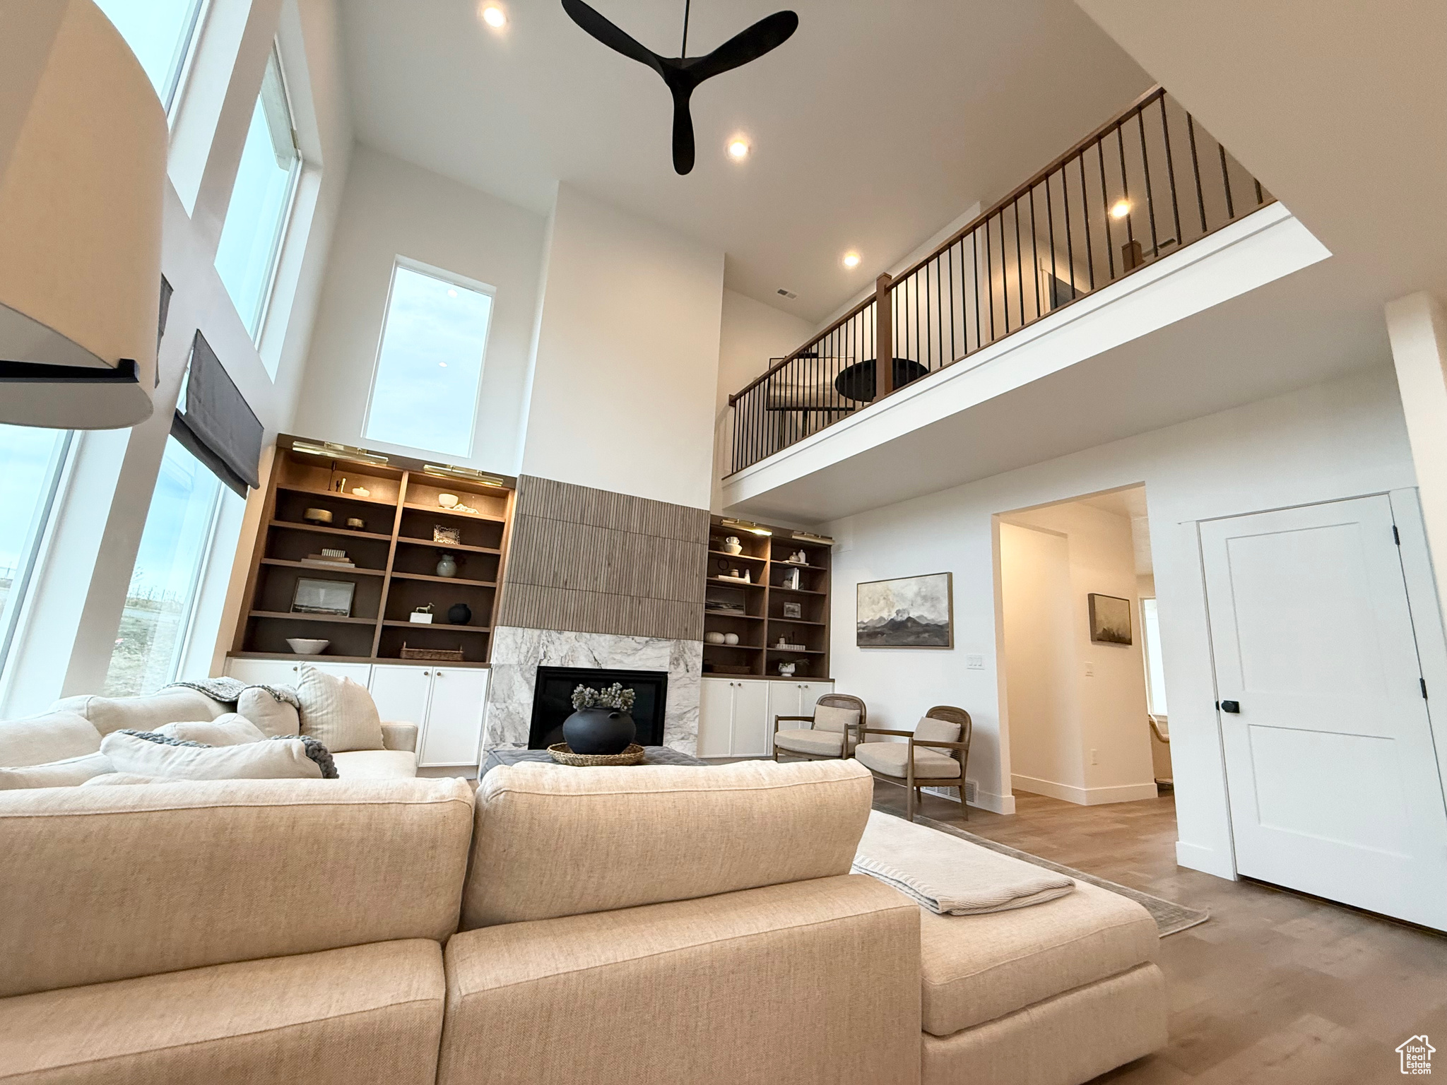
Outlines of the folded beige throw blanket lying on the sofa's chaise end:
[{"label": "folded beige throw blanket lying on the sofa's chaise end", "polygon": [[1075,890],[1064,874],[878,810],[870,812],[854,872],[878,878],[941,916],[1009,911]]}]

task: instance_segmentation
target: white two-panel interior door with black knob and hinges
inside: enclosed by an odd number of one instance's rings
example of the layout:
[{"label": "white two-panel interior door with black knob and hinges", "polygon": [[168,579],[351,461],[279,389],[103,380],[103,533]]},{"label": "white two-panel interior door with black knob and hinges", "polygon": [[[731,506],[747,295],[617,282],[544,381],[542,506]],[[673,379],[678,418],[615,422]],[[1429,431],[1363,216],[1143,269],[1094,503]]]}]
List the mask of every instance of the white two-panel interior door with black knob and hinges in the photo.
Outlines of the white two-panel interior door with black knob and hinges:
[{"label": "white two-panel interior door with black knob and hinges", "polygon": [[1447,929],[1447,810],[1393,537],[1386,496],[1201,525],[1236,865]]}]

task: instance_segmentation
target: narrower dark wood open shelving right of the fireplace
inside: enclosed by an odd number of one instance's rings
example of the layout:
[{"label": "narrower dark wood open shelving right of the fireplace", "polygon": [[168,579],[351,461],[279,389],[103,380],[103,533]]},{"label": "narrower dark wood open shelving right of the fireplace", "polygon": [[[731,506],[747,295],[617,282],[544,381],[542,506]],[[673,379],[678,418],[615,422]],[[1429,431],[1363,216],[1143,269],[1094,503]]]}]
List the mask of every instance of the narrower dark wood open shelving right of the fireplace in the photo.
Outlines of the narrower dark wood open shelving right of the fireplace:
[{"label": "narrower dark wood open shelving right of the fireplace", "polygon": [[[719,516],[710,522],[703,673],[778,678],[778,664],[793,663],[794,680],[828,678],[831,544],[799,538],[790,528],[758,528],[771,534],[734,527]],[[738,554],[728,553],[728,538],[738,540]],[[800,551],[802,563],[793,560]],[[709,634],[732,635],[738,642],[709,644]],[[787,648],[777,647],[780,637]]]}]

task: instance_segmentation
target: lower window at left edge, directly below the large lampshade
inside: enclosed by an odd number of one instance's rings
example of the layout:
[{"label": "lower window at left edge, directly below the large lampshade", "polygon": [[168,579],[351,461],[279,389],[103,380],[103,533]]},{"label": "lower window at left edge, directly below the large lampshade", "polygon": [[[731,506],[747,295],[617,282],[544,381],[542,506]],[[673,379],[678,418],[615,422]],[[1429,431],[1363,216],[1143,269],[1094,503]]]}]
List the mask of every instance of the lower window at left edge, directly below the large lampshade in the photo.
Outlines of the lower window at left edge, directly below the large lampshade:
[{"label": "lower window at left edge, directly below the large lampshade", "polygon": [[68,430],[0,425],[0,674],[55,506]]}]

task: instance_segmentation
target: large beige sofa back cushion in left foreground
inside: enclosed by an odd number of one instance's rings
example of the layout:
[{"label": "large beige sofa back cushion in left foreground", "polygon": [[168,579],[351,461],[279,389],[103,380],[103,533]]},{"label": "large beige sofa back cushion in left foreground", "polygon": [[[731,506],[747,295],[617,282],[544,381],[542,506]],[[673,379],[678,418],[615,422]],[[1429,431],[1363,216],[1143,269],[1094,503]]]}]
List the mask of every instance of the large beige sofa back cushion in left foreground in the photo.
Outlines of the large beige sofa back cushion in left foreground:
[{"label": "large beige sofa back cushion in left foreground", "polygon": [[457,929],[470,836],[462,780],[0,791],[0,997],[440,942]]}]

